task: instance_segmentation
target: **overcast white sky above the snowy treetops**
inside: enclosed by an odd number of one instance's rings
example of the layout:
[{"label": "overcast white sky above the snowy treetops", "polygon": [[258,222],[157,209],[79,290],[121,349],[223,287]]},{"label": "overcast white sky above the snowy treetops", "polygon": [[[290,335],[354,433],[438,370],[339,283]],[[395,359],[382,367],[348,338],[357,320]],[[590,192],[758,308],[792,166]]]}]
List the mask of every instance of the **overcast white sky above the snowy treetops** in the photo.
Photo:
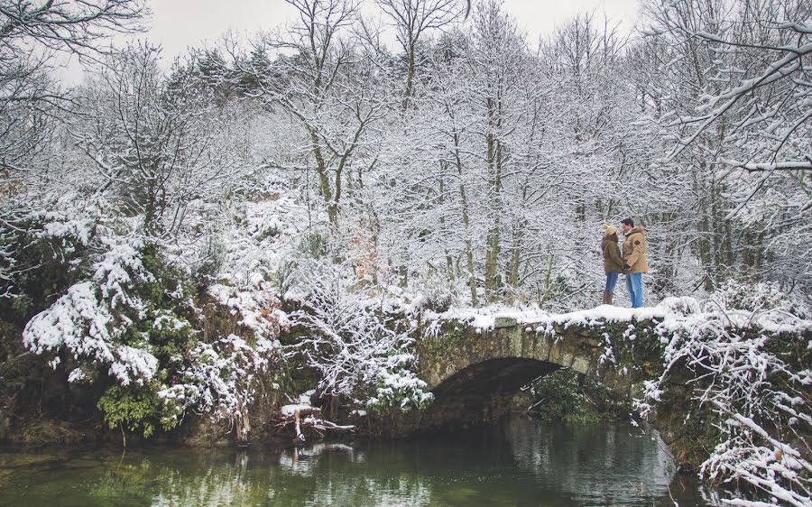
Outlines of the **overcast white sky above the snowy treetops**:
[{"label": "overcast white sky above the snowy treetops", "polygon": [[[371,0],[365,2],[370,4]],[[217,41],[224,32],[272,28],[291,20],[294,13],[284,0],[152,0],[149,4],[150,30],[138,38],[161,44],[167,65],[190,47]],[[605,13],[630,31],[637,19],[638,0],[504,0],[504,9],[535,41],[582,11],[596,11],[601,16]],[[366,12],[373,9],[367,8]],[[65,78],[75,80],[80,75],[74,63]]]}]

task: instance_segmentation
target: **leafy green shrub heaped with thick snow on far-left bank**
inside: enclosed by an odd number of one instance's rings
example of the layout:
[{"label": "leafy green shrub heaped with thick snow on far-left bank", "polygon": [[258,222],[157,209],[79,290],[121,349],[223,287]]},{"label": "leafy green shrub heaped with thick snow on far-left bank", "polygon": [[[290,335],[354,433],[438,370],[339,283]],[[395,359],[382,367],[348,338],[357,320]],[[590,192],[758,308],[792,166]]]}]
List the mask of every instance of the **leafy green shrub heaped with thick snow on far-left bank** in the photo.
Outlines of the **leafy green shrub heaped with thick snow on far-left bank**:
[{"label": "leafy green shrub heaped with thick snow on far-left bank", "polygon": [[149,437],[166,418],[164,389],[172,355],[192,344],[192,309],[184,285],[162,261],[159,248],[139,235],[102,229],[87,279],[65,291],[23,330],[23,345],[64,367],[69,383],[101,383],[97,406],[111,428],[143,429]]}]

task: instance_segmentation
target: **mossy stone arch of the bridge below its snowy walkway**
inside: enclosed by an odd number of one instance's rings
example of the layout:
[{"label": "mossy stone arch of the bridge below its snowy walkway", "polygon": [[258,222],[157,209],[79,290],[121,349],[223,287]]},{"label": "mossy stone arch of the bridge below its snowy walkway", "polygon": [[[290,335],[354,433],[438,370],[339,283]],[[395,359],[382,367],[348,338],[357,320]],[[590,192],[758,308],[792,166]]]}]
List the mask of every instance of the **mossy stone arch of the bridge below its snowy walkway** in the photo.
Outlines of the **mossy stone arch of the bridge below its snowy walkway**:
[{"label": "mossy stone arch of the bridge below its snowy walkway", "polygon": [[503,416],[521,387],[570,368],[614,392],[635,394],[659,373],[662,345],[657,319],[582,323],[519,323],[497,317],[493,327],[445,320],[422,329],[417,345],[420,378],[435,401],[421,410],[420,428],[481,423]]}]

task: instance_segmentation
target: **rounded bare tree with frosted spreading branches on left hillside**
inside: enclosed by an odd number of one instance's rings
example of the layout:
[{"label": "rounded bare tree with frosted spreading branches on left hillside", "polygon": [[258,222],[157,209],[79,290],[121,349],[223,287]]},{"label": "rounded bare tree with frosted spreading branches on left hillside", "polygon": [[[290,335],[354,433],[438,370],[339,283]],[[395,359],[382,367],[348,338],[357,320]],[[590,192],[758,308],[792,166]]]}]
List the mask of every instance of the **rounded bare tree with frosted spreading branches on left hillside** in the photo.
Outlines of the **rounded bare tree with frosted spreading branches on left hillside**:
[{"label": "rounded bare tree with frosted spreading branches on left hillside", "polygon": [[98,192],[141,217],[147,234],[170,237],[193,202],[224,193],[247,170],[240,135],[229,136],[235,109],[214,105],[191,76],[164,76],[159,55],[139,44],[109,57],[83,90],[70,133],[97,168]]}]

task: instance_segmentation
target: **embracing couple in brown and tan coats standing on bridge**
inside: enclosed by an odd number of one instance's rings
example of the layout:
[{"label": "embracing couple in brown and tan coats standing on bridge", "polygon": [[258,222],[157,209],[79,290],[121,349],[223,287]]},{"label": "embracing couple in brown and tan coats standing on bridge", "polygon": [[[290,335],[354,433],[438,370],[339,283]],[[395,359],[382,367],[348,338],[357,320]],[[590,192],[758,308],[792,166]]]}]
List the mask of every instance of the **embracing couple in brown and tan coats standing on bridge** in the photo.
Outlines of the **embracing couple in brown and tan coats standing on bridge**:
[{"label": "embracing couple in brown and tan coats standing on bridge", "polygon": [[649,271],[646,263],[646,231],[642,226],[634,226],[632,218],[623,218],[623,254],[617,246],[617,229],[604,224],[604,239],[601,251],[604,253],[606,289],[604,305],[612,304],[614,285],[620,273],[626,275],[626,290],[632,300],[632,308],[642,306],[642,273]]}]

